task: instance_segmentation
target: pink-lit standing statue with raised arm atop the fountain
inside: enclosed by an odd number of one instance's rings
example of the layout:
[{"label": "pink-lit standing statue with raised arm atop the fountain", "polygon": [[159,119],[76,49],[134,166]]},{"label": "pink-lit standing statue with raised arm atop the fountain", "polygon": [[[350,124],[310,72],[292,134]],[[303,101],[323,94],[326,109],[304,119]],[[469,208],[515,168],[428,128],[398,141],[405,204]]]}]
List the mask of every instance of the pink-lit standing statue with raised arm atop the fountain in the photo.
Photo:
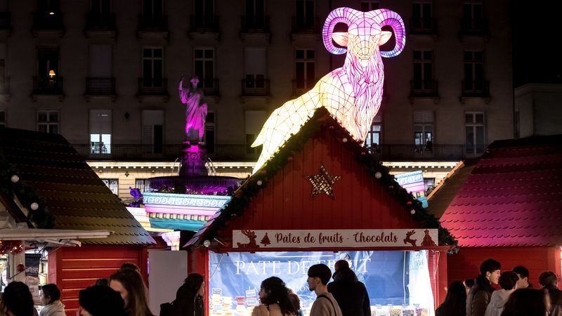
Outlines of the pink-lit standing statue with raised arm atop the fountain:
[{"label": "pink-lit standing statue with raised arm atop the fountain", "polygon": [[205,131],[205,117],[207,117],[207,103],[204,101],[203,91],[197,89],[199,79],[191,79],[191,87],[183,88],[183,77],[180,80],[180,99],[185,104],[185,136],[188,141],[198,142],[203,139]]}]

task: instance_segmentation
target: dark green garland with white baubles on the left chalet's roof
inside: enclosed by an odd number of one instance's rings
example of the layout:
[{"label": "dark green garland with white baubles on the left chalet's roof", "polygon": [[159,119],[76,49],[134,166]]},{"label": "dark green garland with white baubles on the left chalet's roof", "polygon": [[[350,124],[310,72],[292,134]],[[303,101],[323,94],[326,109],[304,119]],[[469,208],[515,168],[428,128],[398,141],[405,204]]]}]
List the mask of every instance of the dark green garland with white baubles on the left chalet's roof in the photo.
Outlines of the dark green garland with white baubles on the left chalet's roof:
[{"label": "dark green garland with white baubles on the left chalet's roof", "polygon": [[[37,228],[53,228],[55,226],[55,218],[49,213],[44,201],[39,198],[34,190],[25,185],[22,180],[12,181],[13,176],[18,176],[19,172],[15,167],[6,160],[4,153],[0,149],[0,192],[6,197],[17,197],[20,203],[29,209],[27,218],[29,218]],[[18,176],[19,178],[19,176]],[[37,203],[36,210],[31,209],[31,205]]]}]

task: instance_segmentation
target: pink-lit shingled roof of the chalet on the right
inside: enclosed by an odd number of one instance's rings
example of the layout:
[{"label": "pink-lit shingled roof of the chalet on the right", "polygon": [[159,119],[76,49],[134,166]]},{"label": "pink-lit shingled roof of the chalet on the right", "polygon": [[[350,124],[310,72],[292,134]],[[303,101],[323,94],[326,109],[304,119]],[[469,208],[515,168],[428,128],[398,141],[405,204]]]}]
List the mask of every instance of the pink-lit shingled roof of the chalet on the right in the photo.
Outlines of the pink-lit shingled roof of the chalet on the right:
[{"label": "pink-lit shingled roof of the chalet on the right", "polygon": [[562,135],[492,143],[440,221],[464,247],[562,245]]}]

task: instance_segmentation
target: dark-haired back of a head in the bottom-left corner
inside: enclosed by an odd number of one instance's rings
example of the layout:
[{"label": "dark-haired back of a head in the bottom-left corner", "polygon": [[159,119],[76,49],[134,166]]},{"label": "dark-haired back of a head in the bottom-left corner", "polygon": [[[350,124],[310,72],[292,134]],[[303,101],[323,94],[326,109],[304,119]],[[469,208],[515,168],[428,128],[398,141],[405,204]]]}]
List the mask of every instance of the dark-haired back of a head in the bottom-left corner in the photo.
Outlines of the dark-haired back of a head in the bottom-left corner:
[{"label": "dark-haired back of a head in the bottom-left corner", "polygon": [[35,308],[30,288],[23,282],[10,282],[4,289],[0,307],[4,315],[33,316]]}]

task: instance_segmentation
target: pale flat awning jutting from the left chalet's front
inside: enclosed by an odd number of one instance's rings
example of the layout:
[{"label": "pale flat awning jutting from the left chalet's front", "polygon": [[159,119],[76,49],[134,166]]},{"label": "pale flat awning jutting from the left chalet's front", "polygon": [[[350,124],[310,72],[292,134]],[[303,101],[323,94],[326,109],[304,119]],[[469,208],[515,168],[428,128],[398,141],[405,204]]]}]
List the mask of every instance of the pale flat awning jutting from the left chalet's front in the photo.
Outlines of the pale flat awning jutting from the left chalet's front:
[{"label": "pale flat awning jutting from the left chalet's front", "polygon": [[23,240],[57,246],[81,246],[77,239],[107,238],[109,230],[48,230],[40,228],[0,229],[0,240]]}]

